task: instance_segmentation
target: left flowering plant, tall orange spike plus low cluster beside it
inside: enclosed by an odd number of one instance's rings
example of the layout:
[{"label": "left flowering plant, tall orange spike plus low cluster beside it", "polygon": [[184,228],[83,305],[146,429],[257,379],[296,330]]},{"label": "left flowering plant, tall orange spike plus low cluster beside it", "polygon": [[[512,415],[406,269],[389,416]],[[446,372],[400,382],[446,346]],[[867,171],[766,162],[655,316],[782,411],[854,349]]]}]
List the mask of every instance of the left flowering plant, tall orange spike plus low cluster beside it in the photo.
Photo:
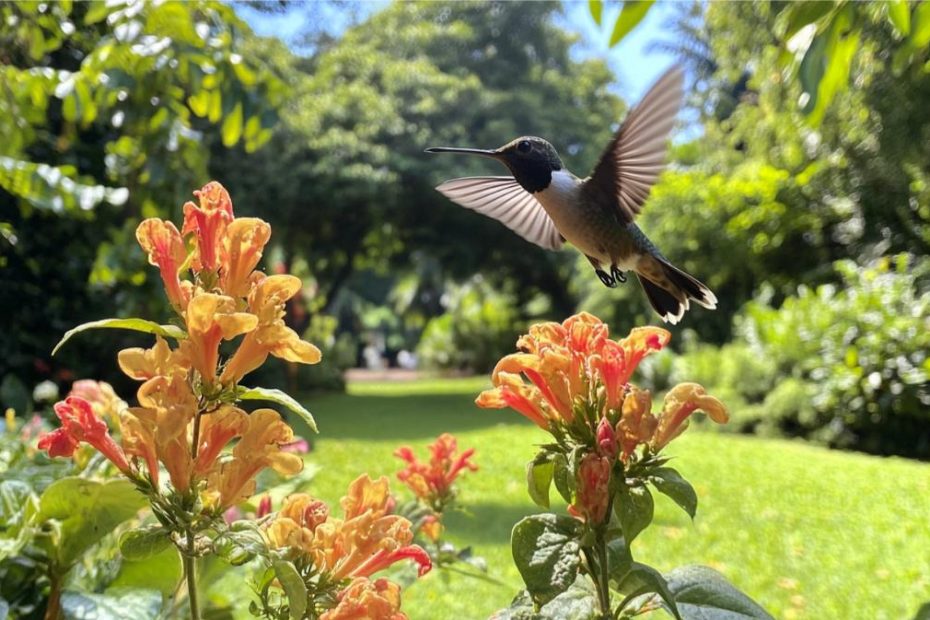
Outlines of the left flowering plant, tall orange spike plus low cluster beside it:
[{"label": "left flowering plant, tall orange spike plus low cluster beside it", "polygon": [[[403,618],[399,586],[369,577],[405,558],[419,563],[419,574],[431,564],[426,552],[411,544],[410,521],[388,514],[386,479],[356,480],[343,498],[343,519],[330,517],[324,504],[305,495],[291,496],[274,515],[263,502],[261,524],[224,519],[255,493],[263,470],[291,476],[303,468],[294,433],[279,413],[247,412],[242,401],[286,406],[316,429],[297,401],[241,381],[269,356],[315,364],[321,355],[284,323],[285,303],[300,290],[300,280],[257,270],[270,226],[235,217],[218,183],[195,195],[199,204],[184,205],[180,231],[156,218],[136,231],[149,262],[159,269],[176,321],[105,319],[72,329],[62,339],[92,328],[154,334],[151,348],[126,349],[118,356],[123,372],[141,382],[138,405],[127,406],[106,384],[79,382],[54,405],[61,426],[42,435],[38,447],[52,457],[71,457],[90,446],[128,480],[128,485],[111,481],[94,487],[94,492],[109,489],[108,501],[121,502],[119,518],[111,515],[108,525],[138,511],[127,497],[138,497],[136,491],[145,497],[155,522],[123,532],[120,550],[140,560],[173,545],[183,560],[193,618],[200,616],[195,562],[211,554],[232,564],[259,558],[268,567],[259,580],[261,604],[253,605],[258,615],[333,620],[362,617],[358,610],[368,609],[364,617]],[[83,485],[85,493],[88,484],[97,485],[84,478],[62,482]],[[58,542],[67,547],[67,541]],[[48,617],[58,615],[61,592],[55,584],[76,557],[72,550],[51,562]]]}]

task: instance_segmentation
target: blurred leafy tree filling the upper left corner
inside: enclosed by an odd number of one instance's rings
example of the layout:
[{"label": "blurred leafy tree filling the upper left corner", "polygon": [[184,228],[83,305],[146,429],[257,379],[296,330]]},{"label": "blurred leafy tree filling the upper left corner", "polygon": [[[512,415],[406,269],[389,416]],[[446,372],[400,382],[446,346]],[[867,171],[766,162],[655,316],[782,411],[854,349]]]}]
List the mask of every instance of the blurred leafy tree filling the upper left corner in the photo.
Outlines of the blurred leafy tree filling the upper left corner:
[{"label": "blurred leafy tree filling the upper left corner", "polygon": [[0,377],[48,377],[68,327],[161,303],[136,223],[207,180],[205,133],[265,142],[283,96],[246,36],[218,2],[0,3]]}]

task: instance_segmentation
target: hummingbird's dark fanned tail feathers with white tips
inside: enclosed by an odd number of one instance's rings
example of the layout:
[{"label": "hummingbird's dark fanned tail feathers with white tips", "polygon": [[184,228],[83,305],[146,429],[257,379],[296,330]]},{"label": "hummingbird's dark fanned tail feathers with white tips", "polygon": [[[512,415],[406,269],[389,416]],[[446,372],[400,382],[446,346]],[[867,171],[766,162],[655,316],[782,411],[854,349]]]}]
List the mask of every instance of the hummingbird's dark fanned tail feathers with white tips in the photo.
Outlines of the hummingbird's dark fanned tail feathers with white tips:
[{"label": "hummingbird's dark fanned tail feathers with white tips", "polygon": [[717,307],[717,297],[709,288],[664,259],[643,257],[636,271],[646,298],[663,321],[678,323],[691,300],[711,310]]}]

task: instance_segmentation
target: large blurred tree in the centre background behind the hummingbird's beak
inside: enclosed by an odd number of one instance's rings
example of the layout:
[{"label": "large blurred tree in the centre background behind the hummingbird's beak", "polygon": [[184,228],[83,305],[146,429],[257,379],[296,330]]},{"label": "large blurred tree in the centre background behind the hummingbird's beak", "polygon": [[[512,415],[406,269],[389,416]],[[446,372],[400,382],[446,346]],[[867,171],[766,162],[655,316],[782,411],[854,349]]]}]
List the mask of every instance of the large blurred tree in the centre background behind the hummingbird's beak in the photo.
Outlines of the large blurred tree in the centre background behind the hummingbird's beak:
[{"label": "large blurred tree in the centre background behind the hummingbird's beak", "polygon": [[[529,133],[551,140],[572,169],[593,167],[623,105],[603,62],[572,59],[556,11],[548,3],[397,3],[310,59],[256,45],[295,94],[270,144],[252,156],[217,153],[216,176],[277,226],[287,260],[306,258],[329,311],[357,271],[409,274],[431,257],[445,277],[483,271],[495,285],[519,282],[518,307],[541,292],[553,316],[568,314],[569,255],[536,248],[432,189],[505,171],[423,153]],[[420,291],[433,310],[435,280]]]}]

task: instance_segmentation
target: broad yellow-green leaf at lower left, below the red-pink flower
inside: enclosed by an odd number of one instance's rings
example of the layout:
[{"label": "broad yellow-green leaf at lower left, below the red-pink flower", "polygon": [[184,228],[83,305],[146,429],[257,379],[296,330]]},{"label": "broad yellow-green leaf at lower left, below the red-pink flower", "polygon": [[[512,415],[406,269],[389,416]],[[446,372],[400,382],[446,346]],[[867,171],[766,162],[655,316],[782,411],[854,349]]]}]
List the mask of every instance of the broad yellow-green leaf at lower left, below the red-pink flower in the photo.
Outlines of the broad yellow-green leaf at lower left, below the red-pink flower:
[{"label": "broad yellow-green leaf at lower left, below the red-pink flower", "polygon": [[145,498],[128,480],[97,482],[69,476],[45,489],[38,519],[59,522],[59,539],[51,553],[58,564],[70,566],[144,505]]}]

